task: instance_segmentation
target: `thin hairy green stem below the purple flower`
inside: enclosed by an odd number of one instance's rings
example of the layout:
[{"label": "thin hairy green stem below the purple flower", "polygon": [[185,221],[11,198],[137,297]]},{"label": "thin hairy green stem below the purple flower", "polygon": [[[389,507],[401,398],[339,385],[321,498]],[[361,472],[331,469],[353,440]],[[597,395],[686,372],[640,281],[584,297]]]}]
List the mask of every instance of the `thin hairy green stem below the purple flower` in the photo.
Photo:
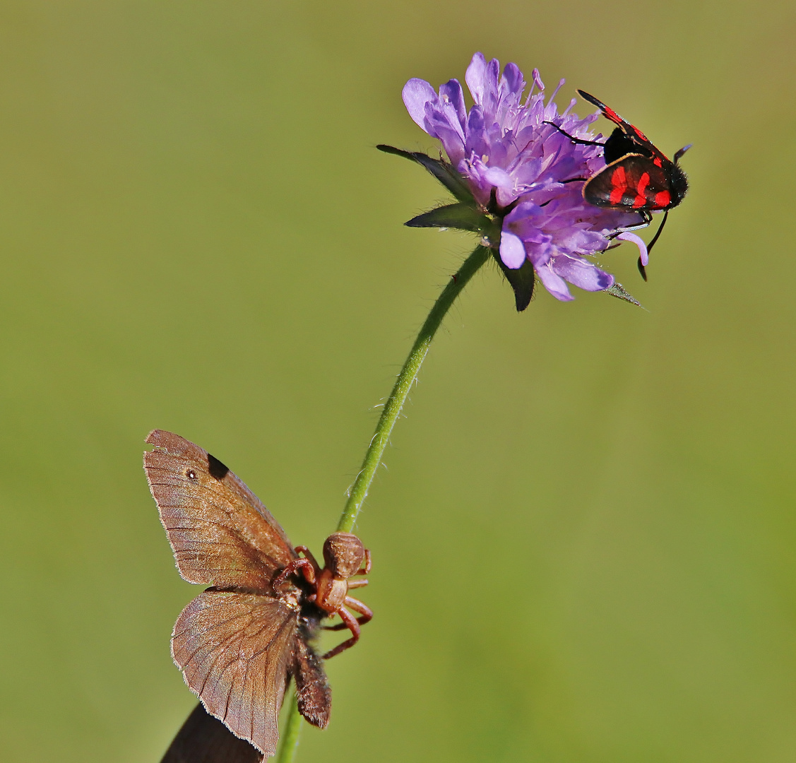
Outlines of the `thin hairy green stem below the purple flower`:
[{"label": "thin hairy green stem below the purple flower", "polygon": [[[381,411],[379,423],[376,425],[376,432],[373,433],[373,437],[370,440],[368,451],[365,453],[365,460],[362,461],[362,468],[357,474],[357,479],[354,480],[349,492],[349,499],[345,503],[340,522],[338,522],[338,532],[349,533],[353,530],[357,515],[362,508],[362,504],[365,503],[365,498],[367,498],[370,483],[373,482],[373,477],[376,476],[376,471],[381,464],[381,456],[384,455],[384,448],[387,447],[392,428],[400,416],[409,390],[412,389],[420,366],[423,365],[428,348],[431,346],[431,339],[434,338],[439,324],[443,322],[443,318],[447,311],[451,309],[456,297],[462,293],[462,289],[466,287],[470,279],[478,272],[478,268],[481,268],[489,257],[490,250],[488,248],[477,246],[474,252],[462,263],[462,267],[458,268],[455,276],[451,277],[442,294],[439,295],[434,303],[434,307],[431,307],[431,312],[428,314],[425,323],[423,323],[423,327],[420,328],[415,343],[412,345],[412,350],[409,351],[408,358],[404,362],[400,374],[398,374],[395,386],[392,387],[390,397],[388,397]],[[298,749],[298,730],[301,728],[301,722],[302,718],[298,713],[298,706],[294,698],[285,723],[285,730],[282,734],[282,744],[279,745],[279,752],[276,757],[277,763],[293,763],[296,749]]]}]

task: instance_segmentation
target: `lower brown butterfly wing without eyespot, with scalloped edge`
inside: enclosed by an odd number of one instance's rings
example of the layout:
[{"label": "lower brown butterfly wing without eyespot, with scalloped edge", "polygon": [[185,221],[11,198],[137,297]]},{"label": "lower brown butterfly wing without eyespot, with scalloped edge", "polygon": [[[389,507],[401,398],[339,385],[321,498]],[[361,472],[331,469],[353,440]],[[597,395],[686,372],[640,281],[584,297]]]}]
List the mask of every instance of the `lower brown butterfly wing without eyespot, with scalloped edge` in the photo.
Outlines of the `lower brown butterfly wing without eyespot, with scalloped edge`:
[{"label": "lower brown butterfly wing without eyespot, with scalloped edge", "polygon": [[205,591],[174,624],[171,652],[209,714],[266,756],[279,740],[279,708],[298,614],[279,599]]}]

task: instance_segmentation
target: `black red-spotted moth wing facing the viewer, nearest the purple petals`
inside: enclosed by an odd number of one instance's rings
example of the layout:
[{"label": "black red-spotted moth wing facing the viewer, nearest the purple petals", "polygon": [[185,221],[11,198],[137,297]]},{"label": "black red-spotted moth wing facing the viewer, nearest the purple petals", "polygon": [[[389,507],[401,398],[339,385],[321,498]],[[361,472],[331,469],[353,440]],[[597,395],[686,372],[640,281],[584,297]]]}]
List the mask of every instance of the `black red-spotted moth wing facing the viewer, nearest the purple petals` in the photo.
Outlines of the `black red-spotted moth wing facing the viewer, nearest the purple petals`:
[{"label": "black red-spotted moth wing facing the viewer, nearest the purple petals", "polygon": [[623,156],[600,170],[584,184],[583,198],[595,206],[627,211],[672,206],[669,174],[641,154]]}]

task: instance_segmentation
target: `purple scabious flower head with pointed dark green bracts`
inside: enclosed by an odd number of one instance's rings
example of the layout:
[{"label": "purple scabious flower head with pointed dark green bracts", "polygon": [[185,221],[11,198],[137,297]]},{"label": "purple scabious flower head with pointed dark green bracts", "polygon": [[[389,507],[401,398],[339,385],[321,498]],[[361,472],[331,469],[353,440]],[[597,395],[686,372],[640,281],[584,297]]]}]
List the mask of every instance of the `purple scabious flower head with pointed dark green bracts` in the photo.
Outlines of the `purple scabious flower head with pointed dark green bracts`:
[{"label": "purple scabious flower head with pointed dark green bracts", "polygon": [[[574,143],[568,137],[595,140],[589,125],[597,115],[580,119],[572,112],[574,99],[564,112],[558,112],[553,98],[564,80],[545,103],[537,69],[524,97],[525,80],[517,65],[506,65],[501,74],[497,59],[487,62],[482,53],[470,61],[465,81],[474,100],[469,112],[458,80],[441,85],[439,92],[425,80],[409,80],[404,86],[404,104],[412,119],[442,142],[450,174],[464,178],[469,201],[499,225],[499,244],[489,243],[497,250],[496,260],[515,289],[517,309],[524,309],[530,301],[534,274],[556,299],[573,299],[567,284],[589,292],[609,289],[622,295],[614,277],[587,257],[603,252],[619,238],[638,245],[642,260],[646,260],[643,241],[622,232],[640,225],[641,215],[599,208],[583,200],[583,182],[605,166],[603,149]],[[425,155],[408,156],[446,182],[439,177],[443,170],[438,167],[435,171],[419,158]],[[446,185],[451,187],[448,182]],[[457,198],[458,206],[468,201],[462,194]],[[457,205],[451,209],[453,206]],[[444,222],[447,227],[476,229],[474,225],[451,224],[447,219],[451,214],[446,217],[439,212],[421,215],[410,224]],[[517,291],[521,279],[516,272],[531,267],[530,288],[526,276],[521,298]]]}]

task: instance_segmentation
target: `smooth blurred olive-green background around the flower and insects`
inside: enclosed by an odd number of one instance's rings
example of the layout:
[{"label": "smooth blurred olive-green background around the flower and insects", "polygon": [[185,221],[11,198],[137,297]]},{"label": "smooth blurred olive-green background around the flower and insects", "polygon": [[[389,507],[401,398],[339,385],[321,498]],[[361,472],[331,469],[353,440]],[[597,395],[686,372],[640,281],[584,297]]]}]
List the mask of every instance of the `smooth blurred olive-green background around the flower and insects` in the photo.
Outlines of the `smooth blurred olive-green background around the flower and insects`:
[{"label": "smooth blurred olive-green background around the flower and insects", "polygon": [[647,311],[470,285],[298,760],[793,761],[794,33],[792,2],[0,3],[2,761],[158,761],[193,707],[150,428],[293,542],[334,529],[472,246],[402,227],[443,190],[374,146],[436,151],[401,87],[476,50],[693,142],[692,190],[648,284],[603,260]]}]

